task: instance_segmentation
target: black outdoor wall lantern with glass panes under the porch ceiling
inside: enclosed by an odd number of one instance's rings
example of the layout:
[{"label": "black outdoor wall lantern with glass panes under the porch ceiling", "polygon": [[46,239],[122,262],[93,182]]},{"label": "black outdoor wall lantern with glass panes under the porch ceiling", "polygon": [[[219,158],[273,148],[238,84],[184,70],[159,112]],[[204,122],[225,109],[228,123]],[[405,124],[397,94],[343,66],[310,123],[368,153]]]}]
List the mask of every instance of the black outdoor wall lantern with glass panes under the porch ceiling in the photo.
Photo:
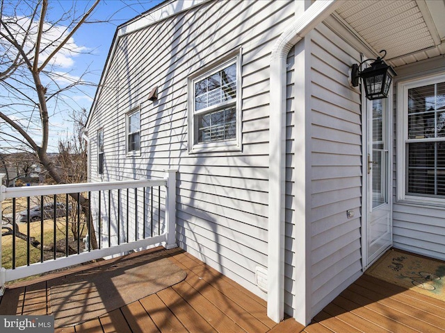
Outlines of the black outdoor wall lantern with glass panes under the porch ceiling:
[{"label": "black outdoor wall lantern with glass panes under the porch ceiling", "polygon": [[[387,51],[380,51],[380,53],[382,52],[385,52],[382,58],[366,59],[360,62],[359,65],[354,64],[351,68],[351,85],[357,87],[357,85],[359,85],[359,78],[362,78],[366,99],[370,101],[373,99],[386,99],[388,97],[389,87],[391,87],[392,78],[397,75],[394,69],[383,61],[383,58],[387,55]],[[362,65],[371,60],[374,60],[371,66],[361,70]]]}]

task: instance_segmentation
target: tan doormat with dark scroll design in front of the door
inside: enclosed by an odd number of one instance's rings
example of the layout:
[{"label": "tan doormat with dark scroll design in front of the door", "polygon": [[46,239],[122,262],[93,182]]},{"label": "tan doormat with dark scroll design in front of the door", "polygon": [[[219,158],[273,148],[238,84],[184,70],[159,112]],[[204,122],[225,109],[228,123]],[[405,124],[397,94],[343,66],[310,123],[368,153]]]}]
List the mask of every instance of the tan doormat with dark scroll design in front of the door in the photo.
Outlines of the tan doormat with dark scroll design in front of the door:
[{"label": "tan doormat with dark scroll design in front of the door", "polygon": [[445,301],[445,262],[389,250],[366,274]]}]

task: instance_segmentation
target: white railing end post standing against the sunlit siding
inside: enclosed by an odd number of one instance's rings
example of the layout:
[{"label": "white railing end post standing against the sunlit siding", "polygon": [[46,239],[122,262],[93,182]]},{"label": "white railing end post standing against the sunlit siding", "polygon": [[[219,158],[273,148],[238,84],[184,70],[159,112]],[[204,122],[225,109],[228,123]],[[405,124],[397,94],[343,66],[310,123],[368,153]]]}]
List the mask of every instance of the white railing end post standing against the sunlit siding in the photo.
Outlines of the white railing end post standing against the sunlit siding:
[{"label": "white railing end post standing against the sunlit siding", "polygon": [[167,244],[165,248],[176,248],[176,173],[177,169],[165,170],[167,187],[165,195],[165,228],[167,229]]}]

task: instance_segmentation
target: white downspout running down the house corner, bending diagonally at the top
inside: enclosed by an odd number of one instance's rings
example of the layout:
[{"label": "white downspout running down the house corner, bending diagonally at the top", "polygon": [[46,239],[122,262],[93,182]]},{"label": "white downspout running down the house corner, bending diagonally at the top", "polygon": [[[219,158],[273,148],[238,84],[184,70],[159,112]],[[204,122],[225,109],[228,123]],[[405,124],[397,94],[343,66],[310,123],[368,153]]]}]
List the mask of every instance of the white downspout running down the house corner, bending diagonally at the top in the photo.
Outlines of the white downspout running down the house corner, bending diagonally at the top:
[{"label": "white downspout running down the house corner, bending diagonally at the top", "polygon": [[[270,58],[269,223],[267,314],[276,323],[284,318],[284,181],[286,172],[286,58],[315,26],[343,0],[318,0],[282,33]],[[302,254],[306,255],[306,254]],[[302,296],[305,297],[305,296]],[[300,309],[297,321],[306,325],[310,309]]]}]

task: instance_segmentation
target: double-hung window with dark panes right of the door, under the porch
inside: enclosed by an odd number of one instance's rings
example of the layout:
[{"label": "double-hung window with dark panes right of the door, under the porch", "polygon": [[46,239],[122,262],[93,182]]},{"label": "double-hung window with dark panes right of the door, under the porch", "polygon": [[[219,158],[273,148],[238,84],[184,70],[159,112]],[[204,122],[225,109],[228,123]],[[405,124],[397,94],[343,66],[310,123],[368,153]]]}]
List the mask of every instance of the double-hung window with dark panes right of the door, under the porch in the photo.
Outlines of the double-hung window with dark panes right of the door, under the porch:
[{"label": "double-hung window with dark panes right of the door, under the porch", "polygon": [[399,198],[445,198],[445,74],[399,84]]}]

